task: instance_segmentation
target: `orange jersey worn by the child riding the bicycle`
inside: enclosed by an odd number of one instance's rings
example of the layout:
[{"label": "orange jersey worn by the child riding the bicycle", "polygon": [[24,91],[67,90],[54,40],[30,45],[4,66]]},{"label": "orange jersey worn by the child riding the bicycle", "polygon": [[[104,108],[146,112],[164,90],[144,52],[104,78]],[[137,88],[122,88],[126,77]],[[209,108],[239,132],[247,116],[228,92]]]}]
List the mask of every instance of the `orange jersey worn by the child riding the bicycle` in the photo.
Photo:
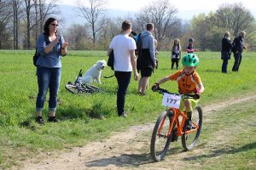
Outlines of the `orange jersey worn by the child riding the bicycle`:
[{"label": "orange jersey worn by the child riding the bicycle", "polygon": [[177,71],[170,76],[170,79],[177,81],[178,92],[180,94],[195,93],[197,84],[201,83],[201,78],[196,71],[193,71],[190,75],[186,75],[183,70]]}]

